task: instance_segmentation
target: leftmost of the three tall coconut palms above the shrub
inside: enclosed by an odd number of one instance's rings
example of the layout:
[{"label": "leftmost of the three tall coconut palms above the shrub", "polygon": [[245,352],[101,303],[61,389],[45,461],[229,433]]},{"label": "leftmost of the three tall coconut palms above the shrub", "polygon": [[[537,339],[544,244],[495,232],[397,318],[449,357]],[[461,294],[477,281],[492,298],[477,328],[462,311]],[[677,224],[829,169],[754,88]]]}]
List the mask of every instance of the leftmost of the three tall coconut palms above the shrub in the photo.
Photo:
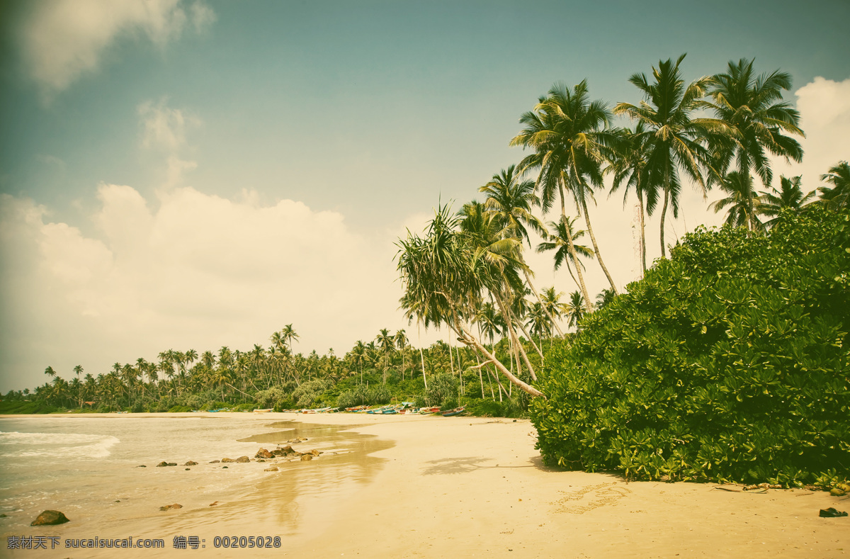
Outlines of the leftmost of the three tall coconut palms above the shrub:
[{"label": "leftmost of the three tall coconut palms above the shrub", "polygon": [[[557,192],[561,200],[561,216],[566,218],[564,189],[570,191],[579,213],[584,213],[599,266],[616,291],[614,280],[599,252],[587,212],[587,198],[592,198],[592,188],[602,186],[602,161],[605,156],[612,155],[610,147],[615,144],[615,134],[605,129],[609,116],[607,104],[588,99],[587,81],[582,81],[572,91],[563,83],[556,83],[547,97],[539,99],[533,111],[520,117],[524,130],[510,144],[536,151],[525,157],[519,167],[523,172],[540,170],[536,186],[541,190],[544,212],[552,206]],[[570,254],[575,259],[572,240],[569,241]],[[589,299],[581,270],[577,273],[581,291]]]}]

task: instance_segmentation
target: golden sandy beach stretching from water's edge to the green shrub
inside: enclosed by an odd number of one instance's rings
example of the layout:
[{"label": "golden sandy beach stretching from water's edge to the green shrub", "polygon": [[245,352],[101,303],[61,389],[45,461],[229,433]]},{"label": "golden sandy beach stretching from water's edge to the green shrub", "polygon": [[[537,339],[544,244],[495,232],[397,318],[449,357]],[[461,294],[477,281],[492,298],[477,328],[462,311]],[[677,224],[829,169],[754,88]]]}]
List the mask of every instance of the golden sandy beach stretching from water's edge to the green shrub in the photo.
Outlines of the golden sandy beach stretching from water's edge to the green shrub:
[{"label": "golden sandy beach stretching from water's edge to the green shrub", "polygon": [[[216,415],[218,421],[246,416]],[[156,556],[840,557],[850,550],[850,518],[818,516],[830,506],[850,510],[846,497],[804,489],[755,493],[717,484],[626,483],[603,473],[556,471],[541,465],[529,421],[360,414],[264,414],[258,421],[297,426],[289,432],[312,429],[319,436],[297,446],[314,445],[324,454],[309,462],[279,461],[278,471],[263,471],[268,463],[232,465],[235,475],[250,468],[262,476],[252,478],[247,492],[222,494],[214,509],[205,502],[208,494],[151,495],[142,505],[178,499],[184,508],[124,519],[121,534],[164,534],[159,537],[165,537],[166,550]],[[274,439],[258,432],[256,448],[273,449]],[[356,473],[343,476],[346,463],[357,465]],[[220,467],[196,466],[201,472]],[[74,520],[28,528],[26,534],[64,539],[97,528]],[[207,539],[206,550],[174,550],[173,534],[193,530]],[[217,550],[211,546],[217,534],[280,534],[282,545]],[[88,551],[11,555],[153,553]]]}]

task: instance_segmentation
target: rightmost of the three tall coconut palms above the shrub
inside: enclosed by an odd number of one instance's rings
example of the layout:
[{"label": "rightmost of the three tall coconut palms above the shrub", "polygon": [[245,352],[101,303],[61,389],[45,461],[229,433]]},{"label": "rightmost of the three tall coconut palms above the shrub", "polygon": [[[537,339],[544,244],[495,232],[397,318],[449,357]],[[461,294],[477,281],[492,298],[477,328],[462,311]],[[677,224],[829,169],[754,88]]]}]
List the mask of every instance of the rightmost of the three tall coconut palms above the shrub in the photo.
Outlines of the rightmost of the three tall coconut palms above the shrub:
[{"label": "rightmost of the three tall coconut palms above the shrub", "polygon": [[[800,144],[783,133],[805,137],[797,126],[800,113],[791,104],[782,101],[782,90],[791,89],[791,74],[779,70],[771,74],[756,76],[752,71],[753,60],[740,59],[738,64],[729,60],[727,72],[711,76],[709,95],[714,103],[706,106],[714,110],[733,133],[728,141],[717,145],[715,155],[720,170],[725,171],[735,160],[735,168],[741,176],[740,185],[750,186],[751,170],[762,178],[768,188],[773,180],[768,154],[781,155],[785,161],[802,161]],[[756,196],[752,188],[745,193],[747,228],[752,232],[758,228]]]}]

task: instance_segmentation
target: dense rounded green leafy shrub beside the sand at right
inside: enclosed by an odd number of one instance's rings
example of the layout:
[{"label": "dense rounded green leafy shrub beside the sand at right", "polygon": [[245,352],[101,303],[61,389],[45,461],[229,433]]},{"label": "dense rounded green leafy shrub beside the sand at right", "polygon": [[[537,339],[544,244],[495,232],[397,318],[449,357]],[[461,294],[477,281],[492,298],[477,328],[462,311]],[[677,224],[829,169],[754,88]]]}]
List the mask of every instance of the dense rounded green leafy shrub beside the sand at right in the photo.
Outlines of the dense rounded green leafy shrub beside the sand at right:
[{"label": "dense rounded green leafy shrub beside the sand at right", "polygon": [[549,464],[783,484],[850,474],[847,215],[698,229],[562,342],[530,415]]}]

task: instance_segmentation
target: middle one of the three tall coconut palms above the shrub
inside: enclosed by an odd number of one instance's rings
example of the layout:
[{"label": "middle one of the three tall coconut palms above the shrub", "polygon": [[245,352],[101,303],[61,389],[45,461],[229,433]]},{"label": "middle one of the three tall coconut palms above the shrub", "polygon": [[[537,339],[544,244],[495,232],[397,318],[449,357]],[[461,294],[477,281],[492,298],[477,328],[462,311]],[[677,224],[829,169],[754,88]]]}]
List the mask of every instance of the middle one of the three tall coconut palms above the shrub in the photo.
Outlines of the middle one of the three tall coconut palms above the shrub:
[{"label": "middle one of the three tall coconut palms above the shrub", "polygon": [[664,192],[660,226],[662,258],[666,257],[664,226],[667,206],[672,206],[673,217],[678,217],[679,212],[682,189],[679,170],[692,178],[705,194],[706,181],[700,172],[700,164],[709,167],[711,172],[713,167],[709,152],[700,140],[727,130],[717,119],[691,118],[694,110],[703,106],[701,99],[706,95],[711,78],[700,77],[686,87],[679,71],[684,58],[683,54],[675,65],[671,59],[660,60],[658,68],[652,68],[653,83],[649,83],[646,74],[633,74],[629,82],[643,92],[644,100],[640,105],[618,103],[614,108],[615,115],[627,115],[638,123],[643,122],[646,127],[646,132],[637,140],[643,143],[647,159],[643,192],[647,195],[647,212],[650,213],[655,209],[658,198],[656,189]]}]

